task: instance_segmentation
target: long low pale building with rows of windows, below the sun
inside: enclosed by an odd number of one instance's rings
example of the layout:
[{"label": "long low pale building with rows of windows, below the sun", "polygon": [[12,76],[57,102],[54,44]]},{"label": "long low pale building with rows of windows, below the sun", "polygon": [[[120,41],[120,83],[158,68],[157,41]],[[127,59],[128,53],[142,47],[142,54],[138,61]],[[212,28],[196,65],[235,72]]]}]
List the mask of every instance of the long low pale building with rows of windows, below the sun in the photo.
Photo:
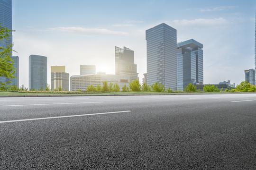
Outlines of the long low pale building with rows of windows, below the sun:
[{"label": "long low pale building with rows of windows, below the sun", "polygon": [[102,81],[107,81],[108,84],[111,82],[113,84],[117,83],[120,87],[126,84],[129,86],[130,76],[128,75],[107,75],[104,72],[99,72],[96,75],[80,75],[80,76],[71,76],[70,77],[70,91],[82,90],[86,91],[87,86],[93,85],[103,85]]}]

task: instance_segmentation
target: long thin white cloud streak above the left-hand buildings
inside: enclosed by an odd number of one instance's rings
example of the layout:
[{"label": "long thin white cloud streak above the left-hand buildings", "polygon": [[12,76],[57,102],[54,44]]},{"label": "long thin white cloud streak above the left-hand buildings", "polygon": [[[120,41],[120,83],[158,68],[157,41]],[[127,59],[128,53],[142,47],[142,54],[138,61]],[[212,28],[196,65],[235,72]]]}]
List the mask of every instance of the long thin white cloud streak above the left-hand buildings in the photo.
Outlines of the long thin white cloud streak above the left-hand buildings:
[{"label": "long thin white cloud streak above the left-hand buildings", "polygon": [[127,35],[128,33],[122,31],[111,31],[105,28],[82,28],[82,27],[56,27],[50,28],[53,31],[73,32],[79,34],[119,34]]}]

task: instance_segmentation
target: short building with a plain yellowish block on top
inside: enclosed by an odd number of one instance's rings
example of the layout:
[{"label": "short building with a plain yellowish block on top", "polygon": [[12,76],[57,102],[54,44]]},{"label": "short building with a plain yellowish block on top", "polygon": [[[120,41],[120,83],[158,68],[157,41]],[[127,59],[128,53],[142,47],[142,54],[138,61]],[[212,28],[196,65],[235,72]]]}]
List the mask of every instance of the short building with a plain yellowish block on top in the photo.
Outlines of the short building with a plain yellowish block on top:
[{"label": "short building with a plain yellowish block on top", "polygon": [[69,91],[69,74],[65,72],[65,66],[51,66],[51,89]]}]

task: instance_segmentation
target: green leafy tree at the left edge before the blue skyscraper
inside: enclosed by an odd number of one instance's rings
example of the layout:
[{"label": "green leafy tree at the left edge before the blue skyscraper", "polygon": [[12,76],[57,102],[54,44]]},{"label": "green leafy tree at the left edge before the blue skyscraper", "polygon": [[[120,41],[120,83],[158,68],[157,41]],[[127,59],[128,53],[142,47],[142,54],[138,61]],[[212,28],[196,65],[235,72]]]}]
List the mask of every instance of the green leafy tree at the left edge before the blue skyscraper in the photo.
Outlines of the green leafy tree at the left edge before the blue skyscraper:
[{"label": "green leafy tree at the left edge before the blue skyscraper", "polygon": [[[0,42],[4,42],[4,40],[9,40],[11,36],[11,32],[13,30],[9,30],[6,27],[0,26]],[[6,44],[6,47],[0,46],[0,76],[5,76],[7,78],[7,82],[0,82],[1,89],[7,89],[11,83],[11,79],[15,78],[15,68],[13,67],[14,60],[11,59],[11,52],[13,44]]]}]

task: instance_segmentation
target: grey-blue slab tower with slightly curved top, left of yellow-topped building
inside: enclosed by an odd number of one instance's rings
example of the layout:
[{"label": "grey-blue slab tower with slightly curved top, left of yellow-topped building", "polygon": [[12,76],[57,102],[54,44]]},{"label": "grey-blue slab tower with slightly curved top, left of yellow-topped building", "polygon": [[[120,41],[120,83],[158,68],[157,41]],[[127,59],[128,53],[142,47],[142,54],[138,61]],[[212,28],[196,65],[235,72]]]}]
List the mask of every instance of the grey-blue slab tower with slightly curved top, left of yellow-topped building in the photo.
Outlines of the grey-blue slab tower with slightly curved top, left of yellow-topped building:
[{"label": "grey-blue slab tower with slightly curved top, left of yellow-topped building", "polygon": [[47,57],[39,55],[29,56],[29,90],[46,89]]}]

